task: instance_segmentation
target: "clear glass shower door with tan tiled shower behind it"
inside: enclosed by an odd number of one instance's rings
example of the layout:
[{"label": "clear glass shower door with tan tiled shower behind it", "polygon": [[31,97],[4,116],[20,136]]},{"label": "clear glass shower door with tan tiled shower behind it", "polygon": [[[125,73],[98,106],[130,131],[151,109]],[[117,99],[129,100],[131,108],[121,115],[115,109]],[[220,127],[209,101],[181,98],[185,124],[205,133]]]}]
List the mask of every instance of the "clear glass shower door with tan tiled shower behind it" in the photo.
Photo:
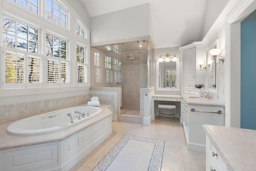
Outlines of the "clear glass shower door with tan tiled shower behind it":
[{"label": "clear glass shower door with tan tiled shower behind it", "polygon": [[120,114],[140,117],[140,88],[147,87],[147,41],[126,42],[121,50],[122,109]]}]

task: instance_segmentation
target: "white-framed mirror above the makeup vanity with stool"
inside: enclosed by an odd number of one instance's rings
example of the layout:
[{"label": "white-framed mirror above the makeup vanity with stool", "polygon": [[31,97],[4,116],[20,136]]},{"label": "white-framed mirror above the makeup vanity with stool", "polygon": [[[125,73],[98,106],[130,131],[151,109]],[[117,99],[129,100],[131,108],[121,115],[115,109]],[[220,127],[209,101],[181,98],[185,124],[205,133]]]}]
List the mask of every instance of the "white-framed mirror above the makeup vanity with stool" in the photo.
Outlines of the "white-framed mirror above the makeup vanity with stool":
[{"label": "white-framed mirror above the makeup vanity with stool", "polygon": [[176,62],[158,62],[156,60],[156,90],[179,90],[179,60]]}]

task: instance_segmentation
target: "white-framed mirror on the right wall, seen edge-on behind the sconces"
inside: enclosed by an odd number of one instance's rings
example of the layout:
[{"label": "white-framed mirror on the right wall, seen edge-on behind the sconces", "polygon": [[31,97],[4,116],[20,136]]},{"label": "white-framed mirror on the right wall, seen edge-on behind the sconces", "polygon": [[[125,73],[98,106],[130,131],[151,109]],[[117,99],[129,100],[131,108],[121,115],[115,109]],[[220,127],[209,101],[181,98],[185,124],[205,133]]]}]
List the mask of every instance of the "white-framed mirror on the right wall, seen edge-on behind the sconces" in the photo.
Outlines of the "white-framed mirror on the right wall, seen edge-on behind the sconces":
[{"label": "white-framed mirror on the right wall, seen edge-on behind the sconces", "polygon": [[206,91],[212,93],[217,93],[218,84],[216,82],[216,64],[214,63],[213,57],[210,54],[211,49],[216,49],[219,46],[219,40],[216,40],[209,48],[206,50]]}]

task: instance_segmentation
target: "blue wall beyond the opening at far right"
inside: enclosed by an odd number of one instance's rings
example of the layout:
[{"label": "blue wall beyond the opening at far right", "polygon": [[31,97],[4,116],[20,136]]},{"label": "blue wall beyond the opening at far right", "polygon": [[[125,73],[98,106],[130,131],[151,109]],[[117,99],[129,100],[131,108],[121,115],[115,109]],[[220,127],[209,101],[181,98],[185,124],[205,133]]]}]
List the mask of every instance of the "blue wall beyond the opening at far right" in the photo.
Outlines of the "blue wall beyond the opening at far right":
[{"label": "blue wall beyond the opening at far right", "polygon": [[241,128],[256,129],[256,10],[241,22]]}]

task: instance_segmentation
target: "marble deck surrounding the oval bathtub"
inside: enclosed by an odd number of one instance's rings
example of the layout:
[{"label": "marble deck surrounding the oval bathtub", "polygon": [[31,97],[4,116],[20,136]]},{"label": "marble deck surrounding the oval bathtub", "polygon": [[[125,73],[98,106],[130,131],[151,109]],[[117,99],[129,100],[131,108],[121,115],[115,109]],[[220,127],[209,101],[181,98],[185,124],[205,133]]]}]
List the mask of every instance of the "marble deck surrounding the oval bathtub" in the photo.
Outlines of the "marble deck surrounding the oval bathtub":
[{"label": "marble deck surrounding the oval bathtub", "polygon": [[15,121],[2,123],[0,124],[0,150],[62,141],[78,133],[79,131],[93,125],[96,121],[102,120],[112,115],[112,112],[108,109],[108,107],[110,106],[111,105],[100,104],[100,108],[102,108],[102,113],[100,115],[92,117],[87,121],[83,121],[80,124],[74,125],[72,127],[68,127],[68,129],[63,129],[60,131],[46,133],[42,135],[31,135],[31,136],[10,135],[6,132],[6,129],[11,123]]}]

